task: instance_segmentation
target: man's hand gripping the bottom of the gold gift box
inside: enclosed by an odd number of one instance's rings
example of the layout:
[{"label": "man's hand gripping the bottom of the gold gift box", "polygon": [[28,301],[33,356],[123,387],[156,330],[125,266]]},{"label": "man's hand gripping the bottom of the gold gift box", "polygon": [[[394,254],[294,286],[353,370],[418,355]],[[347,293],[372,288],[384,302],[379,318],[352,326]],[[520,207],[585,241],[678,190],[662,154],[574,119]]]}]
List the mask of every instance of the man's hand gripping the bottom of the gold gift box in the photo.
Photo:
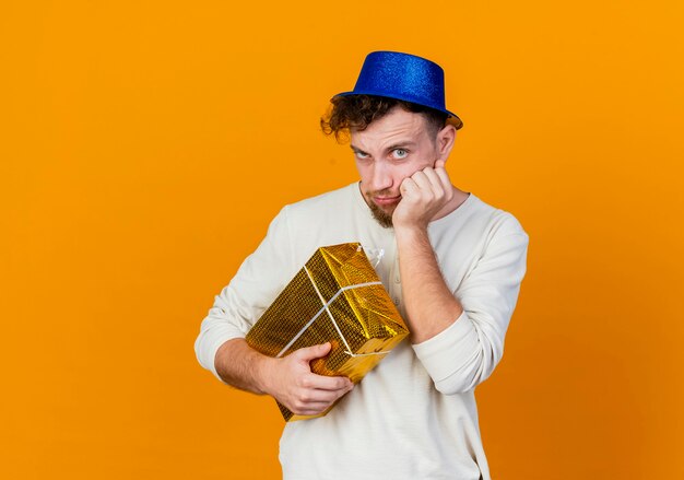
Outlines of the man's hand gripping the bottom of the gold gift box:
[{"label": "man's hand gripping the bottom of the gold gift box", "polygon": [[311,372],[309,362],[326,356],[330,349],[330,343],[323,343],[273,359],[266,372],[267,393],[296,414],[314,415],[325,411],[354,387],[346,377]]}]

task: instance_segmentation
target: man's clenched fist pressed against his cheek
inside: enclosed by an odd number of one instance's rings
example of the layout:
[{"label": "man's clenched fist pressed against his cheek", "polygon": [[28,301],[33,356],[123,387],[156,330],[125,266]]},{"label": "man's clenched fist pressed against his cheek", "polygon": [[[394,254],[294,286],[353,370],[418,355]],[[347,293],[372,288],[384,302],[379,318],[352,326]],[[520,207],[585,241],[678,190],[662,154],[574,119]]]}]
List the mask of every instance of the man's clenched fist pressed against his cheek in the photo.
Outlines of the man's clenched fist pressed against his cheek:
[{"label": "man's clenched fist pressed against his cheek", "polygon": [[392,213],[394,229],[420,227],[427,224],[453,198],[453,187],[445,169],[445,162],[438,160],[435,167],[425,167],[401,183],[401,201]]}]

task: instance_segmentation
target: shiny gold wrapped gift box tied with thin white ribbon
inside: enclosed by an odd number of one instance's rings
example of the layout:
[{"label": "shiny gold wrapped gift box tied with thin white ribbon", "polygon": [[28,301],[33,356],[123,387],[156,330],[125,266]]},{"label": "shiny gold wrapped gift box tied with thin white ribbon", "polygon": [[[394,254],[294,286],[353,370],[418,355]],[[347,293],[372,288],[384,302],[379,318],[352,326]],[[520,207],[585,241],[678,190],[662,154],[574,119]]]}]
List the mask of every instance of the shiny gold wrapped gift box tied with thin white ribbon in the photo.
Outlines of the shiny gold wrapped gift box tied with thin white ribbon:
[{"label": "shiny gold wrapped gift box tied with thin white ribbon", "polygon": [[[409,330],[357,243],[316,250],[247,333],[247,343],[269,356],[330,342],[330,353],[311,361],[319,375],[358,383]],[[297,415],[279,402],[285,421]],[[331,407],[332,408],[332,407]]]}]

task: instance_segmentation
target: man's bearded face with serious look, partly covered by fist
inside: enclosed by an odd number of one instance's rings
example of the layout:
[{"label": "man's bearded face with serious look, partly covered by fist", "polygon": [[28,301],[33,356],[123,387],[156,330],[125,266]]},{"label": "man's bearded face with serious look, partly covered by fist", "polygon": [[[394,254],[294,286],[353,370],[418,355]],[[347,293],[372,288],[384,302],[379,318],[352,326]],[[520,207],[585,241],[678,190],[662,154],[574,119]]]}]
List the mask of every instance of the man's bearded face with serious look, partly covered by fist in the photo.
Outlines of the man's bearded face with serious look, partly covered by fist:
[{"label": "man's bearded face with serious look, partly covered by fist", "polygon": [[382,226],[392,226],[403,179],[426,166],[434,166],[440,157],[438,137],[436,139],[431,131],[423,115],[399,106],[365,130],[351,131],[361,191]]}]

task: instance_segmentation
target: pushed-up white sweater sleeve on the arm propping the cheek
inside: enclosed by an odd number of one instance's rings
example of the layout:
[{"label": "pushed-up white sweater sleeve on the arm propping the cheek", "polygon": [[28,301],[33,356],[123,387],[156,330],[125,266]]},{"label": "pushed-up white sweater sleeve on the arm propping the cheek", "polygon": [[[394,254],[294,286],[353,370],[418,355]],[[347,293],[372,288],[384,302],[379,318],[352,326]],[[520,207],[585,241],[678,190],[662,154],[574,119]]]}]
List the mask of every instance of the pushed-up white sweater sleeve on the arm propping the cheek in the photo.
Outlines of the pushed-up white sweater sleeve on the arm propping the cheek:
[{"label": "pushed-up white sweater sleeve on the arm propping the cheek", "polygon": [[528,235],[503,229],[487,244],[455,295],[463,306],[460,317],[413,349],[445,395],[469,391],[484,382],[504,354],[504,337],[526,272]]}]

